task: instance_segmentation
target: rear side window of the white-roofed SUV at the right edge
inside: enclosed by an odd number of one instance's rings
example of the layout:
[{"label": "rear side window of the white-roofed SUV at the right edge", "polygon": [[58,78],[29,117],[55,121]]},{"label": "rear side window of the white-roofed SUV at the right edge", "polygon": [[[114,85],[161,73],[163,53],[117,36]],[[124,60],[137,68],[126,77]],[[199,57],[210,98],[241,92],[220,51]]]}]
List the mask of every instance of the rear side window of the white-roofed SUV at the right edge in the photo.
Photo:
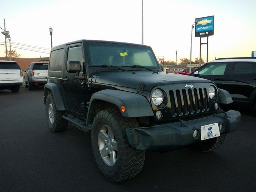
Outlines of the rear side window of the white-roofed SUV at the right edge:
[{"label": "rear side window of the white-roofed SUV at the right edge", "polygon": [[256,62],[234,62],[230,67],[230,75],[256,74]]}]

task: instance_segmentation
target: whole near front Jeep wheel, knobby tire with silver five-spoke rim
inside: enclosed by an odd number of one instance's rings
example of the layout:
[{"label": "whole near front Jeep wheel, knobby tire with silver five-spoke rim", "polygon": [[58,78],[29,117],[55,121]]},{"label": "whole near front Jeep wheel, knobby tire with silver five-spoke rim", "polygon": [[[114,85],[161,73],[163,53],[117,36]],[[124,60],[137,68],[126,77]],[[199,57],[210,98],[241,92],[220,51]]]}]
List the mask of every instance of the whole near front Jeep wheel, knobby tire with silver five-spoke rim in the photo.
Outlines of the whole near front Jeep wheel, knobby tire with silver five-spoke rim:
[{"label": "whole near front Jeep wheel, knobby tire with silver five-spoke rim", "polygon": [[110,182],[130,179],[142,170],[145,152],[132,148],[126,136],[126,128],[138,126],[135,118],[124,118],[114,109],[102,110],[94,118],[92,152]]}]

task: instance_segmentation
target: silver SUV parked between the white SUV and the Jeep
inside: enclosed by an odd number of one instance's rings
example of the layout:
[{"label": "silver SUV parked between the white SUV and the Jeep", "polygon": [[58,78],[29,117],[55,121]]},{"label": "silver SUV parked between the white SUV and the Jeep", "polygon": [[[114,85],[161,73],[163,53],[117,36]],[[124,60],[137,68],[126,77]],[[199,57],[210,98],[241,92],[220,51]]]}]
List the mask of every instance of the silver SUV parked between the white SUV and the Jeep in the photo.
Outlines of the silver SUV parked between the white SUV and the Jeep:
[{"label": "silver SUV parked between the white SUV and the Jeep", "polygon": [[25,74],[25,84],[28,90],[33,90],[36,86],[44,86],[47,83],[48,63],[32,62],[28,70],[23,69]]}]

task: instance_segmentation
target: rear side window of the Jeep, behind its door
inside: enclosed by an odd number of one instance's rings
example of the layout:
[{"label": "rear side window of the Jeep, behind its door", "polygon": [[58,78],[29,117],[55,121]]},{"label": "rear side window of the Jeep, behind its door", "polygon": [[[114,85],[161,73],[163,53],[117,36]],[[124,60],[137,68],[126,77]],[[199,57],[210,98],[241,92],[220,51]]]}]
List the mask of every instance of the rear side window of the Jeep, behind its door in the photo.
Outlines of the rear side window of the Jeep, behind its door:
[{"label": "rear side window of the Jeep, behind its door", "polygon": [[49,61],[49,70],[61,71],[64,57],[64,49],[58,49],[51,52]]}]

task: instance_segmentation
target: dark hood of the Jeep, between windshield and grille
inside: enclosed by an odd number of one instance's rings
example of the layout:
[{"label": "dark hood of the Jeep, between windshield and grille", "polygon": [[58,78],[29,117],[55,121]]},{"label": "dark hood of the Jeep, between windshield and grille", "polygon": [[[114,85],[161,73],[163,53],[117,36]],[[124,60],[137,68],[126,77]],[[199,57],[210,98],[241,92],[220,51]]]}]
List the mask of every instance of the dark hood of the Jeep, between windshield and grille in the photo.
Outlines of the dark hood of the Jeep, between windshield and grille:
[{"label": "dark hood of the Jeep, between windshield and grille", "polygon": [[107,84],[113,86],[122,86],[128,88],[138,89],[140,84],[144,82],[144,90],[151,91],[154,86],[163,84],[192,84],[212,82],[210,80],[197,78],[193,76],[186,76],[180,74],[164,73],[164,72],[152,72],[152,71],[101,71],[91,74],[92,82]]}]

